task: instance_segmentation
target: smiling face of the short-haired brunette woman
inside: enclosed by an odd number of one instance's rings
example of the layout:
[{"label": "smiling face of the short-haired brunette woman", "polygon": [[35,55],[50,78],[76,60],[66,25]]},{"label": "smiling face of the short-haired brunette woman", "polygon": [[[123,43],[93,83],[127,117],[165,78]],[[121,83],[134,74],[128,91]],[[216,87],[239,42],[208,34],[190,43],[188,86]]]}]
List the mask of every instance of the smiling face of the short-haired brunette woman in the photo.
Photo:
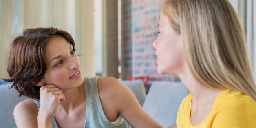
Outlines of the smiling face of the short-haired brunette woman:
[{"label": "smiling face of the short-haired brunette woman", "polygon": [[45,85],[54,84],[66,90],[83,84],[79,57],[73,46],[62,36],[54,36],[46,44],[45,62]]}]

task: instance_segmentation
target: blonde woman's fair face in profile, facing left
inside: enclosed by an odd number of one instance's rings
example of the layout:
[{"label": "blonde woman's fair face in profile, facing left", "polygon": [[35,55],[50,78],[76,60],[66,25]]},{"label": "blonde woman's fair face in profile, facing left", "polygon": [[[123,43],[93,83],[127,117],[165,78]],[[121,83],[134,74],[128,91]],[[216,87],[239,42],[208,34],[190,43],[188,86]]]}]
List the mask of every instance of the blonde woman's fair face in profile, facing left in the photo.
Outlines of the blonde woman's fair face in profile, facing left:
[{"label": "blonde woman's fair face in profile, facing left", "polygon": [[185,64],[181,34],[176,33],[161,13],[158,24],[159,36],[153,42],[157,56],[157,71],[160,74],[178,75]]}]

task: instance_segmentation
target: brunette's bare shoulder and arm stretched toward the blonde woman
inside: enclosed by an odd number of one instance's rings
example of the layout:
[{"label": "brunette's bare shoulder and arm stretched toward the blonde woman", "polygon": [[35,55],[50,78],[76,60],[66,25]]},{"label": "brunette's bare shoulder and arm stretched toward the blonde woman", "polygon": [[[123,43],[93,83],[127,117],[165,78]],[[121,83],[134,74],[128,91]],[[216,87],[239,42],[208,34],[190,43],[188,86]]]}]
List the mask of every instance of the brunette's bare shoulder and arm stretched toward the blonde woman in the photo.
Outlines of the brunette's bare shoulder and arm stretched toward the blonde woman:
[{"label": "brunette's bare shoulder and arm stretched toward the blonde woman", "polygon": [[97,84],[104,113],[107,117],[114,115],[113,121],[121,115],[133,128],[163,127],[143,110],[132,91],[118,79],[102,77]]}]

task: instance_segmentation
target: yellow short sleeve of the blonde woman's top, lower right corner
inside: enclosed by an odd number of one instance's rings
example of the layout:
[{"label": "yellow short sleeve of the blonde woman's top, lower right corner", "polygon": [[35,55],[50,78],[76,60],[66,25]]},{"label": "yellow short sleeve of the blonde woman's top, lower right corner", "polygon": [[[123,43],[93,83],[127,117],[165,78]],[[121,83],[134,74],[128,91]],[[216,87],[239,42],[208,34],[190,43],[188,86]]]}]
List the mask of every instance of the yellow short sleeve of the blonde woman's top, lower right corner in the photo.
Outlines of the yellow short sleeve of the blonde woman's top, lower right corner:
[{"label": "yellow short sleeve of the blonde woman's top, lower right corner", "polygon": [[230,97],[218,107],[212,128],[256,128],[256,104],[247,97]]}]

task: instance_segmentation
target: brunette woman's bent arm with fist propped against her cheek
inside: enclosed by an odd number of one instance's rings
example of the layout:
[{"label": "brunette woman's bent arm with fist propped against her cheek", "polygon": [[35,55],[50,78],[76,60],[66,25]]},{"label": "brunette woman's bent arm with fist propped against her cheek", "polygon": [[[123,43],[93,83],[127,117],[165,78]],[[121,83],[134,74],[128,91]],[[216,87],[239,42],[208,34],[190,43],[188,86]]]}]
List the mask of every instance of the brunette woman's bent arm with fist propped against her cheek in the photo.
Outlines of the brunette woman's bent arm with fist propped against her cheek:
[{"label": "brunette woman's bent arm with fist propped against her cheek", "polygon": [[40,88],[40,109],[33,99],[26,99],[14,108],[13,115],[18,128],[52,128],[52,119],[61,100],[65,97],[55,85]]}]

